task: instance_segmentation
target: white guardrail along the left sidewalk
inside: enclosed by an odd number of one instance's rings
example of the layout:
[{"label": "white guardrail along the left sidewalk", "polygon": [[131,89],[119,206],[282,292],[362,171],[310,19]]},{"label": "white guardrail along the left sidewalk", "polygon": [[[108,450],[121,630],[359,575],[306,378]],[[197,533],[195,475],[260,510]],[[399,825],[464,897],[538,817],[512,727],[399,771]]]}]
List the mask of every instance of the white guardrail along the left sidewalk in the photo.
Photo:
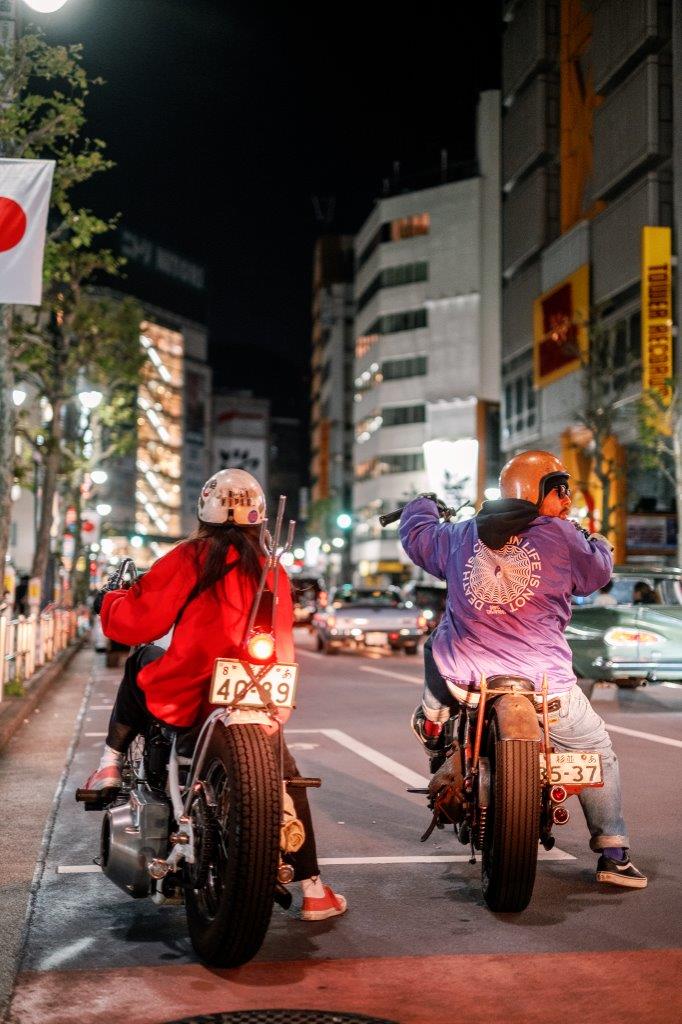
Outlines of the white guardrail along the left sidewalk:
[{"label": "white guardrail along the left sidewalk", "polygon": [[0,700],[7,683],[24,683],[87,627],[82,613],[48,608],[38,615],[0,615]]}]

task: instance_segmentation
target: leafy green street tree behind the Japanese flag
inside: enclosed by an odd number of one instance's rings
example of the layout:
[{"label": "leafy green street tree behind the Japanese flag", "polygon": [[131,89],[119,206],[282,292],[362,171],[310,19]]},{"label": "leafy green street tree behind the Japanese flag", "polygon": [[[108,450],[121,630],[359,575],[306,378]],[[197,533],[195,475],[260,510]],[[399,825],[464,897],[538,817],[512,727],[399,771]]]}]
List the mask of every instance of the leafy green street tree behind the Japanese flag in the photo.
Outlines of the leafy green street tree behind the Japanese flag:
[{"label": "leafy green street tree behind the Japanese flag", "polygon": [[[136,304],[92,291],[96,280],[118,274],[122,266],[102,245],[116,218],[99,217],[78,202],[80,186],[113,166],[104,143],[84,134],[86,97],[97,84],[99,80],[89,79],[83,68],[80,46],[50,46],[40,35],[28,34],[0,54],[0,145],[13,157],[56,161],[43,303],[5,310],[0,349],[0,376],[6,386],[11,389],[13,380],[26,380],[51,413],[32,438],[42,465],[32,567],[40,579],[49,557],[54,495],[60,476],[69,475],[75,464],[77,438],[69,431],[78,392],[101,384],[116,410],[142,362]],[[5,457],[0,467],[3,523],[10,517],[14,426],[13,421],[0,424],[0,454]],[[4,559],[6,546],[5,530],[4,536],[0,532],[0,558]]]}]

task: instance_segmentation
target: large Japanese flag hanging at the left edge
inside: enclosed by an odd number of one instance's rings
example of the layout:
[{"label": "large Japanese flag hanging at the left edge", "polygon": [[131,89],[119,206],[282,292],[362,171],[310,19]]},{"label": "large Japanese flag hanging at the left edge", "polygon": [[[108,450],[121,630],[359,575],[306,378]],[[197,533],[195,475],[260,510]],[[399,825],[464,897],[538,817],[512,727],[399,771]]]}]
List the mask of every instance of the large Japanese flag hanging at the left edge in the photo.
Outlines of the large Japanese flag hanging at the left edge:
[{"label": "large Japanese flag hanging at the left edge", "polygon": [[53,160],[0,160],[0,302],[39,306]]}]

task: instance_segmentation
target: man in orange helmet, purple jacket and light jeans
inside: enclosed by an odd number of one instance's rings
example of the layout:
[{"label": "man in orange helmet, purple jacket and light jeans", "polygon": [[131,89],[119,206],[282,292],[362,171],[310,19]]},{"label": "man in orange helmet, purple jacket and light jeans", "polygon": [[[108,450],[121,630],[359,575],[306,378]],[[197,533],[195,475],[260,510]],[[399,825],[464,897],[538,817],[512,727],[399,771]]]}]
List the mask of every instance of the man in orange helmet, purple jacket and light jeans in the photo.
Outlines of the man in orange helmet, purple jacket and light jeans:
[{"label": "man in orange helmet, purple jacket and light jeans", "polygon": [[500,474],[502,499],[484,502],[465,522],[440,522],[433,496],[420,496],[400,517],[410,558],[447,583],[447,605],[424,648],[425,686],[413,728],[431,753],[459,703],[476,703],[481,675],[547,675],[550,736],[557,750],[601,755],[603,787],[580,801],[599,853],[597,881],[643,889],[629,857],[617,758],[603,720],[577,684],[564,629],[572,594],[610,580],[611,547],[568,520],[565,467],[549,452],[524,452]]}]

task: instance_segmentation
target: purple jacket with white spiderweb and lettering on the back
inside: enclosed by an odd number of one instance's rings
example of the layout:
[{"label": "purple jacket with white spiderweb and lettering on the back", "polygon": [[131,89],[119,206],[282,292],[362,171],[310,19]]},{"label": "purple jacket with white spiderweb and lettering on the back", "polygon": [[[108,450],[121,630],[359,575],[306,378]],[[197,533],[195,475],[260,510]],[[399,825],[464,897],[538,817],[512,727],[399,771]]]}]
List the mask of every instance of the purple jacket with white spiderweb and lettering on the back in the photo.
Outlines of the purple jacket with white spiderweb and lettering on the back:
[{"label": "purple jacket with white spiderweb and lettering on the back", "polygon": [[406,506],[400,541],[413,562],[447,583],[433,636],[446,680],[471,689],[481,675],[507,673],[532,679],[539,689],[547,673],[552,693],[573,685],[563,631],[571,594],[592,594],[611,577],[603,541],[588,541],[564,519],[538,516],[494,550],[479,541],[475,518],[441,523],[428,498]]}]

